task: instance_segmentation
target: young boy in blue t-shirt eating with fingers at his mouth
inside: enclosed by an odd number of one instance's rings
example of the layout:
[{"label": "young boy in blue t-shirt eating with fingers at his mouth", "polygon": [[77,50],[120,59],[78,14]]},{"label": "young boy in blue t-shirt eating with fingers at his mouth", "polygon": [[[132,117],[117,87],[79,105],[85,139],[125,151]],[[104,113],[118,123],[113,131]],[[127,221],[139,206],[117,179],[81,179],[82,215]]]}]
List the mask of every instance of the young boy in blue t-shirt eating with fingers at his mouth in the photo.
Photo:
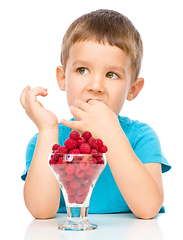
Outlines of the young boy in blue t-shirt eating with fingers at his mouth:
[{"label": "young boy in blue t-shirt eating with fingers at his mouth", "polygon": [[60,124],[37,101],[37,96],[47,96],[47,89],[27,86],[23,90],[20,101],[39,130],[28,144],[22,175],[25,204],[35,218],[65,212],[47,160],[52,145],[63,145],[71,129],[92,132],[109,149],[108,164],[94,188],[89,212],[132,211],[150,219],[160,211],[162,172],[170,166],[159,139],[147,124],[118,115],[125,99],[135,99],[143,88],[144,79],[138,78],[142,55],[141,37],[125,16],[110,10],[91,12],[67,30],[62,66],[57,67],[58,85],[67,93],[74,118],[62,119]]}]

